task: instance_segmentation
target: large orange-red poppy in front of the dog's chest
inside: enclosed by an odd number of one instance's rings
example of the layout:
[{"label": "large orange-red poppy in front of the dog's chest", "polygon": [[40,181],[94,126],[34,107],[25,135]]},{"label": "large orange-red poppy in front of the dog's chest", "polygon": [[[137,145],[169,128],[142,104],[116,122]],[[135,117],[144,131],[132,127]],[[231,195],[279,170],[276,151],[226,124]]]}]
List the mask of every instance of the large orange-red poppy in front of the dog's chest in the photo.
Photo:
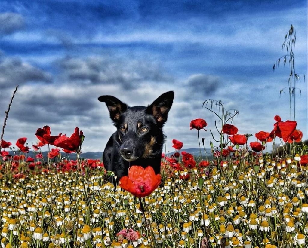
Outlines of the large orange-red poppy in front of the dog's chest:
[{"label": "large orange-red poppy in front of the dog's chest", "polygon": [[142,166],[131,166],[128,176],[120,179],[120,186],[136,197],[150,195],[161,182],[160,174],[155,175],[152,166],[145,169]]}]

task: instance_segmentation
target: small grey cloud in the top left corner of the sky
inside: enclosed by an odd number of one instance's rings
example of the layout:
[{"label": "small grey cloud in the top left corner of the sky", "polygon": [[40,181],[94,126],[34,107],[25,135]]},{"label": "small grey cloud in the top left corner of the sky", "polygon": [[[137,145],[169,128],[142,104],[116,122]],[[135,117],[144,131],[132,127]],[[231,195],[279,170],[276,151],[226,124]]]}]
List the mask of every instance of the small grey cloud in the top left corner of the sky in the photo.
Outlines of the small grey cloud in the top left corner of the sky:
[{"label": "small grey cloud in the top left corner of the sky", "polygon": [[16,13],[0,13],[0,34],[12,34],[23,28],[24,18]]}]

